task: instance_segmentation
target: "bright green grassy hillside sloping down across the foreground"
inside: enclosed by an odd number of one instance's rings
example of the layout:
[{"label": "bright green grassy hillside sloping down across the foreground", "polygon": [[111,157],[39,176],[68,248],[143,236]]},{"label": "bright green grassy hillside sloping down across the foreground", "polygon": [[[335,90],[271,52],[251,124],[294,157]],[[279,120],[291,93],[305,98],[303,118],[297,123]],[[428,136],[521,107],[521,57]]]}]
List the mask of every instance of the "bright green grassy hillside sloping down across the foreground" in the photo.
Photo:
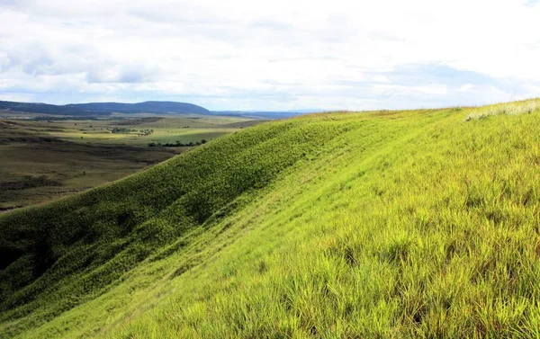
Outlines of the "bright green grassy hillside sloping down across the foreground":
[{"label": "bright green grassy hillside sloping down across the foreground", "polygon": [[0,216],[0,337],[540,337],[540,100],[266,122]]}]

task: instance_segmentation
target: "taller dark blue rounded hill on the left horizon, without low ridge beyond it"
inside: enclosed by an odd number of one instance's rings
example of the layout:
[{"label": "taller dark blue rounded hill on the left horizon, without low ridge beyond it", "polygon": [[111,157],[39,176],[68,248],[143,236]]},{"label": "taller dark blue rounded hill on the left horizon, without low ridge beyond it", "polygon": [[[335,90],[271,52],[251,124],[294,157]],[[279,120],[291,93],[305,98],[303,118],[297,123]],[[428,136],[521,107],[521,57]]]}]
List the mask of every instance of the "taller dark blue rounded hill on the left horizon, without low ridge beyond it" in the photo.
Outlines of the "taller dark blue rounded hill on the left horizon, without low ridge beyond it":
[{"label": "taller dark blue rounded hill on the left horizon, without low ridge beyond it", "polygon": [[0,101],[0,110],[47,113],[58,115],[92,116],[122,113],[181,113],[211,114],[207,109],[193,103],[144,102],[144,103],[15,103]]}]

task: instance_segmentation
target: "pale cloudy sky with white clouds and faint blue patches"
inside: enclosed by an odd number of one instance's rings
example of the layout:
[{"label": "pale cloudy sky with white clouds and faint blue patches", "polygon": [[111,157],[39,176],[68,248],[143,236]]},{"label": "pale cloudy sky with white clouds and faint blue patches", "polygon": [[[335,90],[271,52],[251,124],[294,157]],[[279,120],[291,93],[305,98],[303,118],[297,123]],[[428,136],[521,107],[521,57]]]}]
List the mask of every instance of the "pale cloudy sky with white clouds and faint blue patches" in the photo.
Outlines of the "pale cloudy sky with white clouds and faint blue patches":
[{"label": "pale cloudy sky with white clouds and faint blue patches", "polygon": [[374,110],[540,96],[538,0],[0,0],[0,100]]}]

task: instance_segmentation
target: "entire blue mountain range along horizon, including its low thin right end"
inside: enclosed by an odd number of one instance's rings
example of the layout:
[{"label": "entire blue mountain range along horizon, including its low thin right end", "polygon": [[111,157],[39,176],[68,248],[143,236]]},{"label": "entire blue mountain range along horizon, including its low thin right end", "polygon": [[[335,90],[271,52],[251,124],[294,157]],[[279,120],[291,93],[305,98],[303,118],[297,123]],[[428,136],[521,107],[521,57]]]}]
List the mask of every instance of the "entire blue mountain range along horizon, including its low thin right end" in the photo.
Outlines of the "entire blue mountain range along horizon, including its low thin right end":
[{"label": "entire blue mountain range along horizon, including its low thin right end", "polygon": [[0,101],[0,111],[47,113],[68,116],[101,116],[113,112],[153,113],[153,114],[203,114],[229,115],[264,119],[281,119],[316,110],[300,111],[209,111],[193,103],[144,102],[144,103],[69,103],[54,105],[48,103],[16,103]]}]

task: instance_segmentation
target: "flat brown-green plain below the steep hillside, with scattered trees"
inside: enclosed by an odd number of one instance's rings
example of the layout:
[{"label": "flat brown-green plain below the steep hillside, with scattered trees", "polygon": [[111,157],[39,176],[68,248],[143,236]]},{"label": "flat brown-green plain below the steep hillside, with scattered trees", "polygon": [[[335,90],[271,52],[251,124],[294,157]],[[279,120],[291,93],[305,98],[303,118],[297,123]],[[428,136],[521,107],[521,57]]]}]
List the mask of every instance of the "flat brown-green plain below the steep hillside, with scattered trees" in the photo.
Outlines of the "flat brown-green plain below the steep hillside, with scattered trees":
[{"label": "flat brown-green plain below the steep hillside, with scattered trees", "polygon": [[[186,151],[190,143],[258,122],[144,114],[101,120],[0,120],[0,212],[112,182]],[[148,147],[151,143],[186,146]]]}]

